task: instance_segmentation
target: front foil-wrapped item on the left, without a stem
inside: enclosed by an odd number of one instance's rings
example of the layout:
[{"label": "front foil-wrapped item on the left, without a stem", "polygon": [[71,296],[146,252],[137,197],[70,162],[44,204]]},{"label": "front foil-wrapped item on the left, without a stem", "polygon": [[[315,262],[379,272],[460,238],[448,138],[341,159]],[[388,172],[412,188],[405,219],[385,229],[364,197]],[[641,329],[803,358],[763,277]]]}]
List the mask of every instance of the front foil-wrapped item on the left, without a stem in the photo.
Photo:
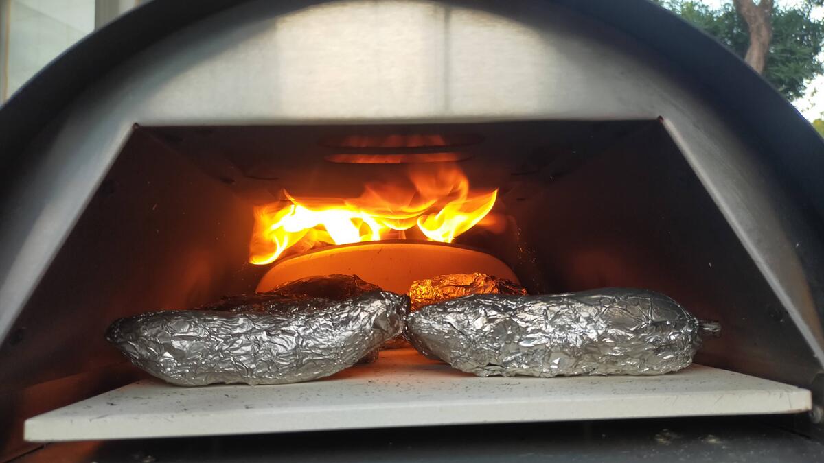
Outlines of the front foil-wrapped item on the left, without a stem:
[{"label": "front foil-wrapped item on the left, without a stem", "polygon": [[160,311],[115,321],[106,338],[180,386],[283,384],[339,372],[400,332],[409,298],[368,292],[275,312]]}]

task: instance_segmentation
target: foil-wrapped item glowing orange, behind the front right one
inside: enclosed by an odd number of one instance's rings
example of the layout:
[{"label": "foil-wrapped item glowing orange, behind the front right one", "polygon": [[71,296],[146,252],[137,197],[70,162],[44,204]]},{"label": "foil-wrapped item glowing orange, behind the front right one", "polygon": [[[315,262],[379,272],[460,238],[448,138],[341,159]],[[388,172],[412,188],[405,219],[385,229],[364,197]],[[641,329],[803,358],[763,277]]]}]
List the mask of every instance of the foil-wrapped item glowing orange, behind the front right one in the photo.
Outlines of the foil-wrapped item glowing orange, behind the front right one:
[{"label": "foil-wrapped item glowing orange, behind the front right one", "polygon": [[486,274],[451,274],[417,280],[410,287],[412,311],[470,294],[522,294],[527,290],[508,279]]}]

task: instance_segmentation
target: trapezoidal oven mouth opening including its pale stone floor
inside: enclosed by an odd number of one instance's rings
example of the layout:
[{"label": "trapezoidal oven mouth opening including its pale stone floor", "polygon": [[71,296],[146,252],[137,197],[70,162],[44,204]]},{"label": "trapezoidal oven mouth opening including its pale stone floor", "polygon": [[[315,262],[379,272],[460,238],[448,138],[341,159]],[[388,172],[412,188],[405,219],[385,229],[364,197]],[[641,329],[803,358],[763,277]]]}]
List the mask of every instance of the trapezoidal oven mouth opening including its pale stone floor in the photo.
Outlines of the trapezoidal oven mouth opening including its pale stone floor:
[{"label": "trapezoidal oven mouth opening including its pale stone floor", "polygon": [[[364,125],[396,133],[402,124]],[[316,430],[329,422],[335,428],[382,428],[742,410],[780,414],[812,406],[808,391],[762,379],[772,373],[751,361],[751,339],[770,335],[771,330],[762,330],[769,320],[725,323],[741,315],[730,312],[736,307],[763,305],[774,295],[761,284],[758,269],[660,121],[406,124],[408,133],[480,135],[460,147],[318,142],[361,129],[343,124],[138,127],[33,298],[59,310],[42,311],[49,314],[48,323],[44,330],[28,330],[23,347],[54,344],[51,339],[64,333],[52,326],[72,325],[94,344],[115,318],[159,307],[201,306],[227,294],[333,273],[357,274],[399,293],[409,290],[410,279],[473,272],[520,282],[531,294],[649,288],[672,296],[701,319],[720,320],[723,336],[707,343],[695,366],[655,377],[483,378],[397,349],[371,365],[290,386],[180,388],[144,379],[31,419],[27,438],[274,433]],[[438,152],[467,157],[408,164],[329,160],[340,153]],[[295,249],[294,255],[270,264],[248,264],[256,205],[291,203],[279,202],[284,190],[295,199],[358,198],[363,185],[399,179],[416,164],[459,164],[472,189],[497,190],[490,209],[500,215],[497,226],[472,227],[452,243],[386,235],[380,241]],[[413,274],[418,269],[422,273]],[[106,297],[101,300],[100,294]],[[78,320],[77,314],[89,307],[101,316]],[[757,316],[747,314],[748,320]],[[97,344],[87,352],[98,349],[101,362],[115,362],[117,353],[102,341]],[[44,360],[27,363],[37,367]],[[53,374],[77,367],[68,359]],[[227,401],[225,394],[238,400]],[[686,395],[691,400],[673,399]],[[135,402],[134,397],[144,399]],[[208,418],[215,407],[244,426],[215,423]]]}]

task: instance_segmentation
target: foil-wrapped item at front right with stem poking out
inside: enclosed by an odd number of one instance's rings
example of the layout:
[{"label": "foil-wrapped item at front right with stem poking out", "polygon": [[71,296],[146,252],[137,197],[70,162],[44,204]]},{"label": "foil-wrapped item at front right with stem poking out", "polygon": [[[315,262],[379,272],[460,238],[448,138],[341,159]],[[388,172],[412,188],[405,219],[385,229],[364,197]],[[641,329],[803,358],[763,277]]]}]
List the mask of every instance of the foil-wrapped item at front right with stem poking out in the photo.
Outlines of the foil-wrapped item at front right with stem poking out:
[{"label": "foil-wrapped item at front right with stem poking out", "polygon": [[700,325],[671,298],[606,288],[550,296],[481,294],[407,316],[422,353],[478,376],[657,375],[692,362]]}]

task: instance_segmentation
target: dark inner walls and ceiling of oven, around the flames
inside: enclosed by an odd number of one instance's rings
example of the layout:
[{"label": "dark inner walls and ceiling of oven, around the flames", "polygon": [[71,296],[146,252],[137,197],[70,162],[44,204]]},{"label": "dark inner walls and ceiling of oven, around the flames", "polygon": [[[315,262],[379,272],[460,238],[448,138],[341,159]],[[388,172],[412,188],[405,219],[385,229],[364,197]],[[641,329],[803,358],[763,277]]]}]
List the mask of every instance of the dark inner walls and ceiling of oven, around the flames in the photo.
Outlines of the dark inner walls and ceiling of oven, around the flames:
[{"label": "dark inner walls and ceiling of oven, around the flames", "polygon": [[[0,350],[0,383],[16,391],[5,416],[142,377],[106,344],[111,321],[254,291],[270,266],[248,262],[255,205],[283,189],[353,197],[445,164],[499,189],[501,220],[456,244],[530,292],[663,292],[723,326],[696,362],[814,381],[810,349],[661,120],[135,125]],[[68,384],[54,403],[26,400]]]}]

